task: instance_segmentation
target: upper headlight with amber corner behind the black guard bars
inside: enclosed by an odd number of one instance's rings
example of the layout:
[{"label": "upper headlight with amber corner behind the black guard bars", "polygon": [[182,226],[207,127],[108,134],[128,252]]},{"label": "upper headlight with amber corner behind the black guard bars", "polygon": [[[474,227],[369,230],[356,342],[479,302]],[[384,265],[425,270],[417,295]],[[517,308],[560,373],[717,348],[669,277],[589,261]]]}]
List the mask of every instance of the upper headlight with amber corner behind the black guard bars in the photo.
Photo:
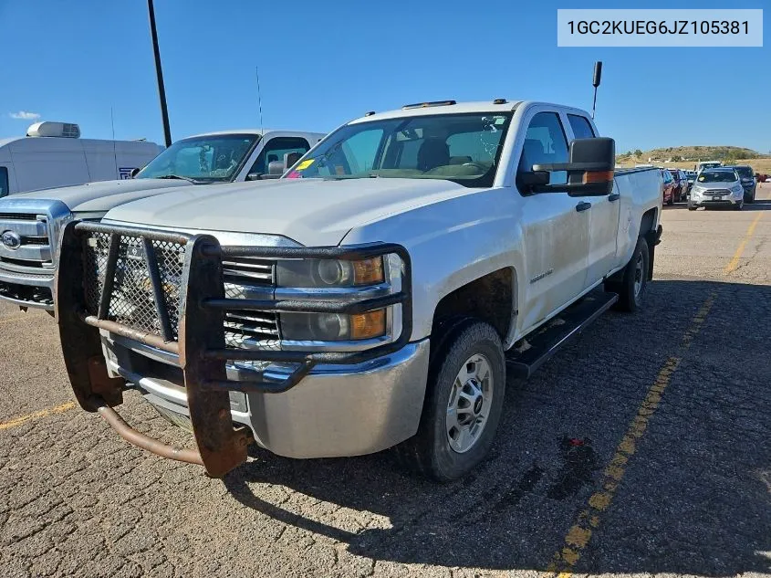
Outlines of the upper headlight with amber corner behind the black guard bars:
[{"label": "upper headlight with amber corner behind the black guard bars", "polygon": [[384,281],[382,257],[359,261],[302,259],[276,263],[276,282],[279,287],[354,287],[376,285]]}]

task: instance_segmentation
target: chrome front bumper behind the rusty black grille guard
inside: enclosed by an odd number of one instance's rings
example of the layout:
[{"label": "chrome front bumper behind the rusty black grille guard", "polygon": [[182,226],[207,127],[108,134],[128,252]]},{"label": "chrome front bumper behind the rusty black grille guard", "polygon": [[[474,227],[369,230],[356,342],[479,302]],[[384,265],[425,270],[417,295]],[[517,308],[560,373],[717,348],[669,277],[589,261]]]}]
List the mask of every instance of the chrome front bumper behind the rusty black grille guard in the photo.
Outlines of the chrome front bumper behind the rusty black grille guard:
[{"label": "chrome front bumper behind the rusty black grille guard", "polygon": [[[182,382],[149,376],[141,366],[171,368],[176,356],[101,331],[108,372],[134,384],[161,411],[188,415]],[[355,365],[318,364],[281,394],[231,392],[233,421],[248,426],[258,445],[279,456],[347,457],[370,454],[414,436],[428,374],[429,342]],[[143,361],[145,360],[145,361]],[[276,364],[270,373],[290,370]],[[228,366],[228,377],[238,373]]]}]

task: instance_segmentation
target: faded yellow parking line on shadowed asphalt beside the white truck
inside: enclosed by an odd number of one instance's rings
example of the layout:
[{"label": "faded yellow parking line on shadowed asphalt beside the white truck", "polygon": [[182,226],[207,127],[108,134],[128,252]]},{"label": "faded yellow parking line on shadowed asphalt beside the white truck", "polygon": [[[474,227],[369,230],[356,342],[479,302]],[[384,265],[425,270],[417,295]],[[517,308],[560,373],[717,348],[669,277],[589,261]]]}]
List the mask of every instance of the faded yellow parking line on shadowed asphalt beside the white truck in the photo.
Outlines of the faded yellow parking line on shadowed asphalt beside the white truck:
[{"label": "faded yellow parking line on shadowed asphalt beside the white truck", "polygon": [[[687,350],[691,346],[693,337],[701,330],[707,313],[712,309],[714,298],[715,293],[710,294],[693,316],[691,325],[682,336],[682,350]],[[549,578],[555,576],[557,578],[570,578],[572,576],[573,568],[589,544],[592,532],[599,528],[602,513],[610,507],[616,490],[624,478],[630,459],[635,453],[637,444],[648,428],[651,417],[661,404],[662,394],[679,364],[680,358],[675,356],[670,357],[663,364],[662,370],[656,376],[656,380],[648,389],[648,394],[645,395],[645,399],[638,408],[637,415],[631,420],[626,434],[616,447],[616,453],[603,472],[601,489],[592,494],[588,506],[578,512],[575,523],[565,536],[562,549],[555,552],[552,562],[549,563],[546,574]]]}]

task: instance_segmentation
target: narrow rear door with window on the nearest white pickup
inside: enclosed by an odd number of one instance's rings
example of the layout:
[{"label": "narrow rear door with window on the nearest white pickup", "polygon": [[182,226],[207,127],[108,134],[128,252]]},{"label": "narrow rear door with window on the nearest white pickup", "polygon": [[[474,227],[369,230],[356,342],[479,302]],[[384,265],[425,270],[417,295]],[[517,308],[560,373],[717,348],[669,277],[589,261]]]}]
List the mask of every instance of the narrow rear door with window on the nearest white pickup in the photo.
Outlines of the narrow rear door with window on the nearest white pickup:
[{"label": "narrow rear door with window on the nearest white pickup", "polygon": [[[573,139],[597,136],[589,119],[580,114],[567,114]],[[616,239],[619,234],[620,194],[613,184],[612,194],[583,196],[578,200],[590,203],[589,251],[583,288],[588,289],[610,273],[616,264]]]}]

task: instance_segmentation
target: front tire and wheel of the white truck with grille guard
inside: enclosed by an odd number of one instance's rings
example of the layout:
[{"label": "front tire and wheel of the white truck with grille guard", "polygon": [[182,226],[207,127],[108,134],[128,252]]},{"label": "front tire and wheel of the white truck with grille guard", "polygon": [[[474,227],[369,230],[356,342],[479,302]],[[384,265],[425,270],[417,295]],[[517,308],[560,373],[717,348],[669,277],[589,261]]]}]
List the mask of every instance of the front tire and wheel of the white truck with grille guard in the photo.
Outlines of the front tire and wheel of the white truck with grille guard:
[{"label": "front tire and wheel of the white truck with grille guard", "polygon": [[[505,395],[504,348],[495,329],[471,317],[444,329],[431,338],[436,350],[418,433],[394,448],[403,467],[439,482],[462,478],[484,460],[495,442]],[[470,376],[463,387],[458,387],[460,375]],[[474,375],[482,381],[474,381]],[[448,422],[453,404],[454,426]]]}]

